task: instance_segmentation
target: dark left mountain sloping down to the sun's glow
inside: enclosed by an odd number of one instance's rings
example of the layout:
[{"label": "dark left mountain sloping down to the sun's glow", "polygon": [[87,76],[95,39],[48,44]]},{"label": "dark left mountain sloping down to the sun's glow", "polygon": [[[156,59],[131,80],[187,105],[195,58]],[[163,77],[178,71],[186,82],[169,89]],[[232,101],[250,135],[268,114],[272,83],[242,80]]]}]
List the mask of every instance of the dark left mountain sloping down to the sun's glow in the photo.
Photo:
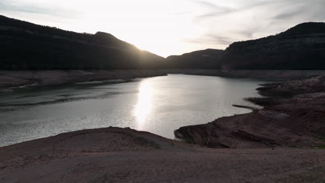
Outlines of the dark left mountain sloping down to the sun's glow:
[{"label": "dark left mountain sloping down to the sun's glow", "polygon": [[0,69],[151,69],[164,58],[108,33],[74,33],[0,16]]}]

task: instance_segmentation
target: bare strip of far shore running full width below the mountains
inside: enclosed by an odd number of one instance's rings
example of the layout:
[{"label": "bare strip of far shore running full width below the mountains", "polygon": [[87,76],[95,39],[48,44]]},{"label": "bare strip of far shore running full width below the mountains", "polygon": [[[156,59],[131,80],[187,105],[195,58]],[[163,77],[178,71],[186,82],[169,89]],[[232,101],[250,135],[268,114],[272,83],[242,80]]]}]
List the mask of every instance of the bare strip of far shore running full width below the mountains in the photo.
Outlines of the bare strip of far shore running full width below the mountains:
[{"label": "bare strip of far shore running full width below the mountains", "polygon": [[167,76],[168,73],[183,73],[198,76],[226,78],[258,78],[269,80],[298,80],[325,75],[325,70],[218,70],[218,69],[128,69],[128,70],[42,70],[0,71],[0,92],[9,92],[22,87],[55,86],[77,82],[101,82],[134,78]]}]

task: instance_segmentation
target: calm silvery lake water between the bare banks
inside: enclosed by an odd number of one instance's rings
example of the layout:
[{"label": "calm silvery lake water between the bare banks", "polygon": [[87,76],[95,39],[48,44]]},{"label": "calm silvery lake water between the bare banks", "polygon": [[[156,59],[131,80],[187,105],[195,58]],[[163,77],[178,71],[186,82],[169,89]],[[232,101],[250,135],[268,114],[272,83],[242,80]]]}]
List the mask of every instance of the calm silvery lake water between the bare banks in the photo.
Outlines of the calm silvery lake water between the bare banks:
[{"label": "calm silvery lake water between the bare banks", "polygon": [[72,85],[0,95],[0,146],[90,128],[130,127],[174,138],[185,125],[250,112],[256,79],[169,75],[114,85]]}]

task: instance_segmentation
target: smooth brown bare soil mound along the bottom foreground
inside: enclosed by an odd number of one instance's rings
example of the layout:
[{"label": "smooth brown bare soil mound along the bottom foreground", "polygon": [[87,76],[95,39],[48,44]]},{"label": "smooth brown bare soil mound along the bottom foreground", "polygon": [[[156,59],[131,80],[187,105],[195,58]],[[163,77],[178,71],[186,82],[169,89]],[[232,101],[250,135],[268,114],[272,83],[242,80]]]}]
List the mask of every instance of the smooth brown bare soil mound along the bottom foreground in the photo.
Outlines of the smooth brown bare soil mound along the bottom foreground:
[{"label": "smooth brown bare soil mound along the bottom foreground", "polygon": [[211,149],[131,129],[0,148],[0,182],[323,182],[325,150]]}]

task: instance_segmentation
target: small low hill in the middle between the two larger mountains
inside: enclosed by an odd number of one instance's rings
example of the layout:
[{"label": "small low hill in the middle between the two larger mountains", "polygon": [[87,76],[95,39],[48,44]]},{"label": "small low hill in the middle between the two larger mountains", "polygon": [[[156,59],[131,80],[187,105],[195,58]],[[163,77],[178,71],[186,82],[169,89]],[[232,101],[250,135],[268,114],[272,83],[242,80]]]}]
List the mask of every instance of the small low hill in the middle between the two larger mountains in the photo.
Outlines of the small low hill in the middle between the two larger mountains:
[{"label": "small low hill in the middle between the two larger mountains", "polygon": [[217,49],[206,49],[183,55],[172,55],[166,58],[166,64],[169,68],[177,69],[219,69],[222,52]]}]

